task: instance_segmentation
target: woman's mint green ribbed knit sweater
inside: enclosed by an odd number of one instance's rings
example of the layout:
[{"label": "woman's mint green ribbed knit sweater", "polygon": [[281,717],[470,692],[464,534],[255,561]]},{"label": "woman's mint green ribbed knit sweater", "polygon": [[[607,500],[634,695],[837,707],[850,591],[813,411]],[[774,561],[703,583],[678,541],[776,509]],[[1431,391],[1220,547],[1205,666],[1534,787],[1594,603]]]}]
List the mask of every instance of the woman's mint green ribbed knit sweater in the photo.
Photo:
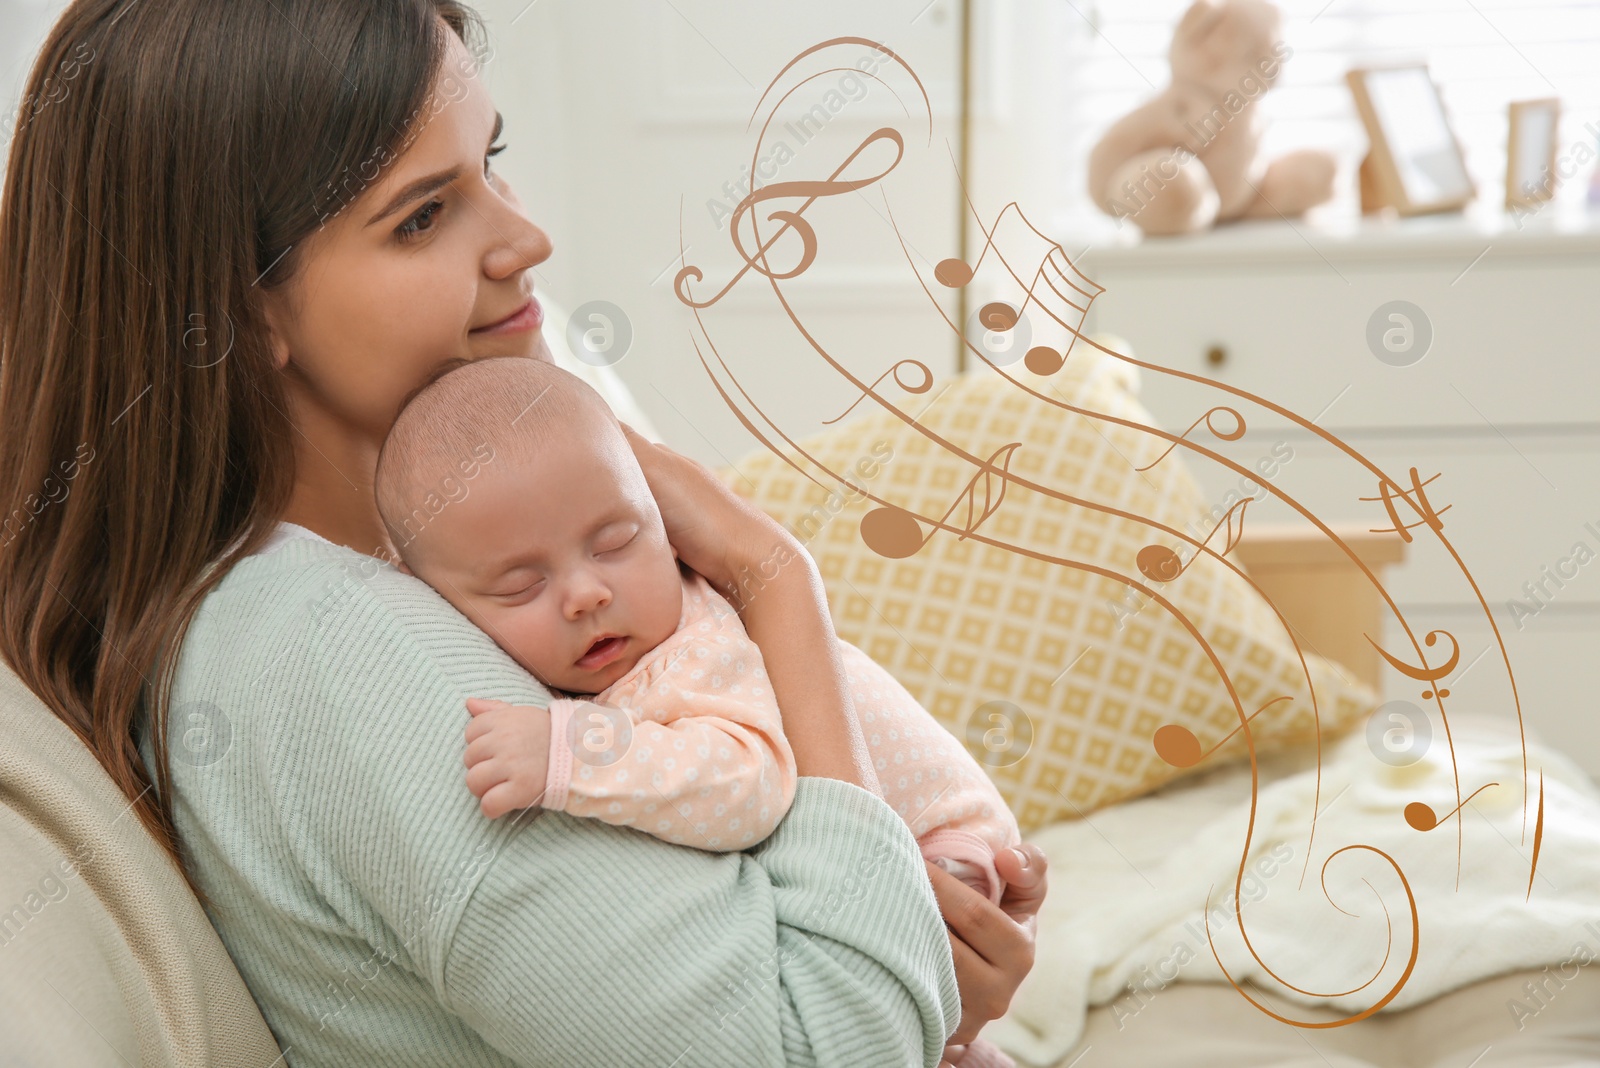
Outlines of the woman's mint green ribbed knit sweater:
[{"label": "woman's mint green ribbed knit sweater", "polygon": [[549,702],[421,580],[331,542],[246,558],[184,640],[178,830],[288,1065],[938,1063],[950,946],[880,798],[802,777],[728,854],[486,820],[467,695]]}]

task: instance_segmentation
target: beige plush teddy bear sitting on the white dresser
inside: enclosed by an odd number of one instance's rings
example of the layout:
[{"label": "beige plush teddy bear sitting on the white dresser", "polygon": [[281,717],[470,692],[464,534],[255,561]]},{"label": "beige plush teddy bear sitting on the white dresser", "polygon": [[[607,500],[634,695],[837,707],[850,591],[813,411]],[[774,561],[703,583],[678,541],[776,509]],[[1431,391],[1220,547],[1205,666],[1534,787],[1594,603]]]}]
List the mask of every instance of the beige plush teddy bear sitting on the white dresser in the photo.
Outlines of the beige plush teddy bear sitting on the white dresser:
[{"label": "beige plush teddy bear sitting on the white dresser", "polygon": [[1173,83],[1125,115],[1090,153],[1090,197],[1144,233],[1293,217],[1333,197],[1334,157],[1261,157],[1256,102],[1291,50],[1267,0],[1195,0],[1173,34]]}]

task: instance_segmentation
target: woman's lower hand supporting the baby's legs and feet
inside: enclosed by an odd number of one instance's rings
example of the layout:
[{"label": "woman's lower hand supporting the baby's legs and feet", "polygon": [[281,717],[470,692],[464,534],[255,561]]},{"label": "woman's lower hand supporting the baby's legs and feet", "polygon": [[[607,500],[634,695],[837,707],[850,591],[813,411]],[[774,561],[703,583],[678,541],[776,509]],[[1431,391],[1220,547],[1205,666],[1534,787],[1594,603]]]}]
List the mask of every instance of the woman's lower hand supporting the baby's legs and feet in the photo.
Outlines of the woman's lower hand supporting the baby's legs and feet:
[{"label": "woman's lower hand supporting the baby's legs and feet", "polygon": [[1027,855],[1026,867],[1022,857],[1010,849],[995,854],[995,868],[1006,881],[998,905],[944,868],[925,862],[933,895],[950,929],[955,985],[962,991],[962,1025],[946,1047],[950,1062],[962,1054],[950,1047],[971,1042],[986,1023],[1005,1015],[1011,994],[1034,967],[1038,907],[1045,902],[1050,862],[1038,846],[1024,843],[1018,849]]}]

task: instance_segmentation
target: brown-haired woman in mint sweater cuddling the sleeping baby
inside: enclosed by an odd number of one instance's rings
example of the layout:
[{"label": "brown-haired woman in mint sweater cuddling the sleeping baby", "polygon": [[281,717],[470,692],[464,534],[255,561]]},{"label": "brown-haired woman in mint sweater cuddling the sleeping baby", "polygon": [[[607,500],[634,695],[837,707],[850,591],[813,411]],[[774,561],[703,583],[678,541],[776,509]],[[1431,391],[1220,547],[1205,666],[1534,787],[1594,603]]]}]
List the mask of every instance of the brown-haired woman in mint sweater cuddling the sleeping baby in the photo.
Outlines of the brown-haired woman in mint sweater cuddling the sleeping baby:
[{"label": "brown-haired woman in mint sweater cuddling the sleeping baby", "polygon": [[1032,966],[1043,855],[1000,859],[1002,908],[918,859],[814,564],[699,464],[632,438],[690,566],[797,556],[744,611],[782,825],[710,854],[466,788],[466,697],[549,694],[386,563],[371,475],[446,361],[550,358],[472,29],[454,0],[61,18],[0,206],[0,651],[186,867],[288,1063],[958,1058]]}]

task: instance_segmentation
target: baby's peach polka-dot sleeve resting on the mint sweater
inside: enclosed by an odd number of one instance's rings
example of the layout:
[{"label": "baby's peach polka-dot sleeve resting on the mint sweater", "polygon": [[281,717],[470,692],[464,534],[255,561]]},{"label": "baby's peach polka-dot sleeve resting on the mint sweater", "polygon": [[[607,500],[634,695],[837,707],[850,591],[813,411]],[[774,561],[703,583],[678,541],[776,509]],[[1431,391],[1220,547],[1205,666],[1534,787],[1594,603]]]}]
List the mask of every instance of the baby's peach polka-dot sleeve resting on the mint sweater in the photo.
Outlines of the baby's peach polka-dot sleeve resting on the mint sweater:
[{"label": "baby's peach polka-dot sleeve resting on the mint sweater", "polygon": [[794,750],[763,697],[674,687],[648,716],[557,697],[542,804],[675,846],[747,849],[795,791]]}]

